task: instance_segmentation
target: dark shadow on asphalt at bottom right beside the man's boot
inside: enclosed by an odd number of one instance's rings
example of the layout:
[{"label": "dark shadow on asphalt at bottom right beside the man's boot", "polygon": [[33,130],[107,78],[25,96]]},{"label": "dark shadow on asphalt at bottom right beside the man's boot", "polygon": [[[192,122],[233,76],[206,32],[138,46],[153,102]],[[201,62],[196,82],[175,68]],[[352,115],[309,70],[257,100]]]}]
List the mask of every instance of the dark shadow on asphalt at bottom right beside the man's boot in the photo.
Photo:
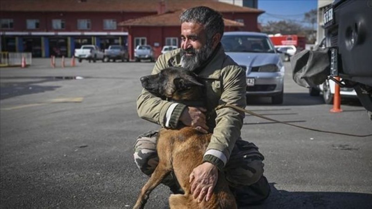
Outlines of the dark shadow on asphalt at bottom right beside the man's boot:
[{"label": "dark shadow on asphalt at bottom right beside the man's boot", "polygon": [[240,209],[370,209],[372,194],[352,192],[288,192],[270,183],[271,194],[261,205]]}]

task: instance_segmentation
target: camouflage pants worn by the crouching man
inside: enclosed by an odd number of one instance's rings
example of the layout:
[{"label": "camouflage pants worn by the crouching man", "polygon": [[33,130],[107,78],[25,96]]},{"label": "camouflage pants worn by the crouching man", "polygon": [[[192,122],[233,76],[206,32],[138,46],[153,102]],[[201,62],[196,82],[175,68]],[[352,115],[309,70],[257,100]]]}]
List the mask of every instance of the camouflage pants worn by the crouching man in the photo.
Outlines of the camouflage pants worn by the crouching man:
[{"label": "camouflage pants worn by the crouching man", "polygon": [[[150,131],[140,135],[134,145],[134,161],[147,176],[151,176],[159,163],[156,151],[157,134],[157,131]],[[263,159],[263,155],[253,143],[243,140],[236,142],[224,172],[238,205],[258,203],[269,196],[269,183],[263,176]],[[171,190],[177,187],[177,180],[172,173],[162,183]]]}]

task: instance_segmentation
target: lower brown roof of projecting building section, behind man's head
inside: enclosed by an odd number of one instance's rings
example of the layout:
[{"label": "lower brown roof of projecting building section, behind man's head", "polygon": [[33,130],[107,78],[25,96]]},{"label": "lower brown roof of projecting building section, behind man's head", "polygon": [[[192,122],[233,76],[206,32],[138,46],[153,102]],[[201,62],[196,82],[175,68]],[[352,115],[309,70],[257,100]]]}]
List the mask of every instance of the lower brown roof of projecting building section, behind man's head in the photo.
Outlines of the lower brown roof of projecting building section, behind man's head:
[{"label": "lower brown roof of projecting building section, behind man's head", "polygon": [[[150,15],[137,19],[130,19],[118,23],[118,26],[180,26],[179,16],[182,10],[167,12],[160,15]],[[224,19],[225,26],[243,27],[244,24],[234,20]]]}]

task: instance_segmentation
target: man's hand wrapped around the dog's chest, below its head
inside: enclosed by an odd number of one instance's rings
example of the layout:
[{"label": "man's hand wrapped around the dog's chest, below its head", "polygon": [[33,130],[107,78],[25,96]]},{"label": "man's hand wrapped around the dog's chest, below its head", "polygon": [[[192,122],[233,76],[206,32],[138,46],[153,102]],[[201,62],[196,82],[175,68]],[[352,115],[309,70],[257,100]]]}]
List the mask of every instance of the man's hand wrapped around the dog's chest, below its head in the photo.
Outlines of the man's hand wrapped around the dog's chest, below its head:
[{"label": "man's hand wrapped around the dog's chest, below its head", "polygon": [[180,121],[185,126],[191,126],[203,134],[208,134],[208,126],[206,125],[205,112],[203,107],[186,107],[180,117]]}]

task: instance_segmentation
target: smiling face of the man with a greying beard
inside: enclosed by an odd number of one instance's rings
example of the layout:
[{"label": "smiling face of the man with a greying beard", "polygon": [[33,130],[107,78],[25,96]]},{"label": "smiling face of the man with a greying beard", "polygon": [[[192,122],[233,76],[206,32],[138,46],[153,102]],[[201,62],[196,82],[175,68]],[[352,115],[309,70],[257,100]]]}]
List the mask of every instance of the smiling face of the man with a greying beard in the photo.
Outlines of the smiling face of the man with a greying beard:
[{"label": "smiling face of the man with a greying beard", "polygon": [[206,31],[199,23],[182,23],[181,39],[181,64],[189,70],[202,65],[214,49],[212,40],[206,39]]}]

